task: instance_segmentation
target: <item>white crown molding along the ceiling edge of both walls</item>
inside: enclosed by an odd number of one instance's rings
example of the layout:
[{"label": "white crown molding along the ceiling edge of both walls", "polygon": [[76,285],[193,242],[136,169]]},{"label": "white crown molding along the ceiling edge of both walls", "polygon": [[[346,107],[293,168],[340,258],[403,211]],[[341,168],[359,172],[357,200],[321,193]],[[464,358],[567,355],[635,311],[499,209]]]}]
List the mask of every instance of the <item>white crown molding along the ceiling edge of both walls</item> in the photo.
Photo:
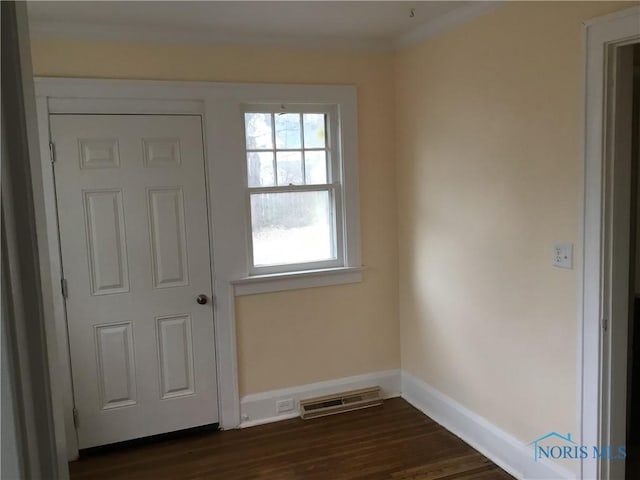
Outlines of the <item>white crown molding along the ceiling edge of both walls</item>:
[{"label": "white crown molding along the ceiling edge of both walls", "polygon": [[32,21],[29,30],[33,38],[67,38],[117,42],[161,44],[241,45],[263,47],[295,47],[302,49],[332,49],[368,52],[391,52],[419,43],[436,34],[457,27],[484,15],[501,1],[474,1],[434,18],[396,39],[351,38],[299,35],[268,35],[237,31],[188,31],[160,29],[135,25],[104,25],[99,23],[66,23]]}]

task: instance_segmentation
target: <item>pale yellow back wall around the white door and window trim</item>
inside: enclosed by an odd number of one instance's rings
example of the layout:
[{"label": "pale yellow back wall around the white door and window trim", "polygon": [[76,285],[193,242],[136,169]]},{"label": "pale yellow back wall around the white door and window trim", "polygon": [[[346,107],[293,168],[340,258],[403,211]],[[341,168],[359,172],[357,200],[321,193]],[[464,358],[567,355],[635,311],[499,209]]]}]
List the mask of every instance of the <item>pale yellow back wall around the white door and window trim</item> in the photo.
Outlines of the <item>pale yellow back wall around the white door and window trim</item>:
[{"label": "pale yellow back wall around the white door and window trim", "polygon": [[34,74],[355,84],[364,281],[237,299],[242,395],[399,368],[390,55],[32,40]]}]

